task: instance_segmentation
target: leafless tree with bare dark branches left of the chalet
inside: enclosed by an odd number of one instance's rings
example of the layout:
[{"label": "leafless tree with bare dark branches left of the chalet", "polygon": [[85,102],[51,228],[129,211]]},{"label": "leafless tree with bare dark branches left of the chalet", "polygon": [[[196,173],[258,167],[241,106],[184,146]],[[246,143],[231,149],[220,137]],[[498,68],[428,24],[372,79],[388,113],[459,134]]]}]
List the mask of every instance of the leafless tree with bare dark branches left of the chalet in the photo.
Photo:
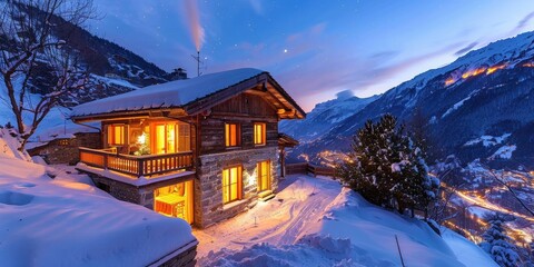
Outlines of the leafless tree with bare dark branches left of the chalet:
[{"label": "leafless tree with bare dark branches left of the chalet", "polygon": [[[95,12],[90,0],[4,0],[0,12],[0,75],[7,90],[2,100],[14,116],[23,150],[61,98],[86,83],[73,53],[63,48],[68,38],[59,39],[55,30],[81,26]],[[30,95],[36,89],[31,77],[42,66],[50,80],[36,98]]]}]

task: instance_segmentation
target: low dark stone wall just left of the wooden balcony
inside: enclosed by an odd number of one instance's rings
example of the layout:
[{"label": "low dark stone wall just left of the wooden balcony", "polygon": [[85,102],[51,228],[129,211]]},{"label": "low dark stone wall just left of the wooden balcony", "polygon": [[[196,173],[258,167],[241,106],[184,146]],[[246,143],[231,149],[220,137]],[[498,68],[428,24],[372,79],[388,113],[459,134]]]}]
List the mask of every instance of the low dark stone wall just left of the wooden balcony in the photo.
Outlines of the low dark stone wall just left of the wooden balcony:
[{"label": "low dark stone wall just left of the wooden balcony", "polygon": [[47,164],[70,164],[80,160],[78,147],[100,148],[100,132],[80,132],[75,138],[55,139],[47,145],[28,149],[30,156],[41,156]]}]

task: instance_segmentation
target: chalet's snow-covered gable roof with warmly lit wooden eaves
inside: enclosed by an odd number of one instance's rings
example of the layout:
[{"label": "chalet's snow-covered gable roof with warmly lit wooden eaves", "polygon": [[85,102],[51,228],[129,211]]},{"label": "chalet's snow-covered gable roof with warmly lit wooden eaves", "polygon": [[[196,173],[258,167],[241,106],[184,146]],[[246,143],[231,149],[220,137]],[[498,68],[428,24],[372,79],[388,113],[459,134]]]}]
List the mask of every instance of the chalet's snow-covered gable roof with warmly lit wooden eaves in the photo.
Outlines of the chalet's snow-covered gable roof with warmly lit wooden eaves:
[{"label": "chalet's snow-covered gable roof with warmly lit wooden eaves", "polygon": [[243,92],[260,95],[273,103],[280,119],[306,116],[289,95],[273,79],[257,69],[236,69],[188,80],[171,81],[141,88],[73,108],[75,121],[120,118],[151,111],[181,110],[185,116],[205,112]]}]

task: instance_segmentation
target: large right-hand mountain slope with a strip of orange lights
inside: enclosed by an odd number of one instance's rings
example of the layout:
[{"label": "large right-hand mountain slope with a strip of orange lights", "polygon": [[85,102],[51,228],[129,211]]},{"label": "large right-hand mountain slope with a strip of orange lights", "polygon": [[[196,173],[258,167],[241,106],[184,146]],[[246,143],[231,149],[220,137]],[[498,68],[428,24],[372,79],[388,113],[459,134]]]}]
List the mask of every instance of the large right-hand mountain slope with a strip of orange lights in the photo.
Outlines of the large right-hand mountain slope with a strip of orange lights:
[{"label": "large right-hand mountain slope with a strip of orange lights", "polygon": [[297,147],[291,157],[320,161],[320,151],[346,151],[366,120],[393,113],[419,120],[443,157],[475,158],[533,166],[534,32],[500,40],[453,63],[428,70],[388,90],[320,138]]}]

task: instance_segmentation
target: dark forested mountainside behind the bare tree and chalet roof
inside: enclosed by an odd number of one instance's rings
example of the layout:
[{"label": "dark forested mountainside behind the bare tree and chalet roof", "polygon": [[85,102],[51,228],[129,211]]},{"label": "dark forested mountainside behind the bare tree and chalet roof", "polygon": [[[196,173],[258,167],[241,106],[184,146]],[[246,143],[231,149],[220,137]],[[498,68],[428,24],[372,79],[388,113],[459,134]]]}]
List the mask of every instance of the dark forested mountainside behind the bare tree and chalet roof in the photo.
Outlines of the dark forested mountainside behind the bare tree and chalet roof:
[{"label": "dark forested mountainside behind the bare tree and chalet roof", "polygon": [[[29,20],[28,18],[32,16],[44,16],[42,11],[36,8],[13,4],[17,7],[17,12],[4,18],[4,22],[9,22],[10,26],[17,22],[24,23],[20,21]],[[56,55],[52,57],[65,53],[70,57],[71,61],[77,62],[79,72],[88,73],[86,88],[66,97],[62,102],[63,106],[76,106],[81,102],[127,92],[139,87],[166,82],[171,78],[171,75],[156,65],[147,62],[138,55],[111,41],[96,37],[60,17],[52,16],[49,23],[51,24],[50,39],[66,40],[63,44],[58,46],[58,50],[55,51]],[[33,29],[23,27],[18,29],[17,34],[7,29],[2,30],[0,32],[0,50],[7,51],[7,55],[17,53],[18,47],[23,46],[19,41],[32,38],[33,34]],[[55,68],[52,68],[55,62],[51,62],[52,57],[44,56],[46,53],[47,51],[40,51],[40,55],[37,56],[39,60],[33,62],[34,68],[30,72],[29,85],[33,93],[48,93],[49,88],[57,83],[57,76],[55,75]]]}]

